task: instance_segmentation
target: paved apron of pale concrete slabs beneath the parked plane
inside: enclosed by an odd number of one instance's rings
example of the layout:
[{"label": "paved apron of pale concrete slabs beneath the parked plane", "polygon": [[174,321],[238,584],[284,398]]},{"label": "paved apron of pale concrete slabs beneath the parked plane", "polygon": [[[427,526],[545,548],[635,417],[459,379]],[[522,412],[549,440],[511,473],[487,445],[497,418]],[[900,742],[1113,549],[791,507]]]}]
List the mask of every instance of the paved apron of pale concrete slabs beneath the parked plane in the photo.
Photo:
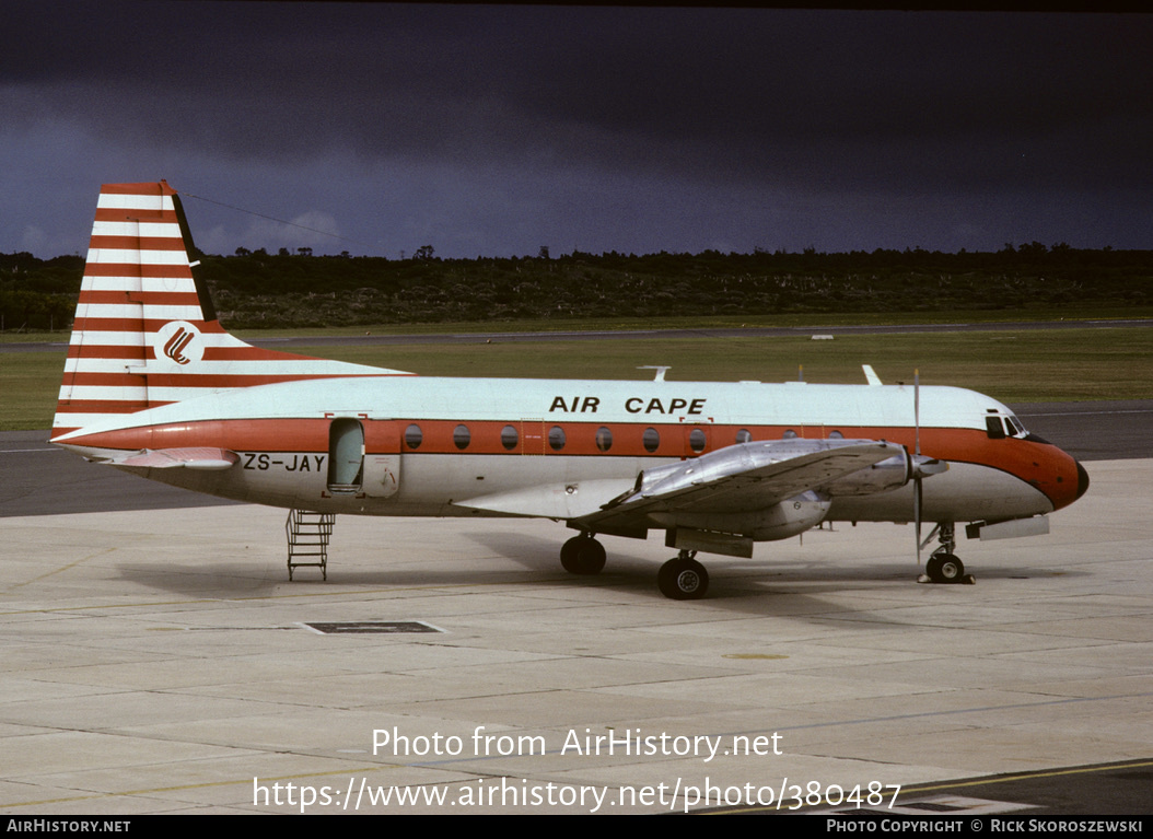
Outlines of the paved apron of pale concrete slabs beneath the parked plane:
[{"label": "paved apron of pale concrete slabs beneath the parked plane", "polygon": [[[123,509],[48,514],[110,506],[51,476],[112,470],[5,436],[0,814],[814,811],[894,785],[894,812],[1150,812],[1148,406],[1042,408],[1037,433],[1130,459],[1087,462],[1049,536],[962,541],[975,585],[914,583],[909,527],[838,526],[710,559],[691,603],[656,591],[658,539],[573,577],[540,521],[342,516],[329,582],[288,583],[282,511],[149,509],[166,487],[125,477]],[[1043,426],[1102,411],[1107,445]]]}]

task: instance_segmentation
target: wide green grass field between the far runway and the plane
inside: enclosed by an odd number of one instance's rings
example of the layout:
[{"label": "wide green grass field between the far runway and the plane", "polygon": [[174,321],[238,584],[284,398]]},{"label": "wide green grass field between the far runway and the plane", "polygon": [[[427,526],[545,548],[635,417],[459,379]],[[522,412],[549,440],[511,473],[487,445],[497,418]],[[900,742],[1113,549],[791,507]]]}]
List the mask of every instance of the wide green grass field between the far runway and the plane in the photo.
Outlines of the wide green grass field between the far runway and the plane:
[{"label": "wide green grass field between the far runway and the plane", "polygon": [[[588,324],[586,324],[588,326]],[[814,328],[819,333],[819,328]],[[332,333],[327,333],[332,334]],[[42,339],[43,340],[43,339]],[[60,340],[58,334],[56,340]],[[796,380],[864,384],[861,364],[888,383],[969,387],[1004,402],[1153,399],[1153,328],[1072,328],[809,338],[678,338],[316,347],[297,352],[423,376]],[[65,352],[0,353],[0,430],[52,424]]]}]

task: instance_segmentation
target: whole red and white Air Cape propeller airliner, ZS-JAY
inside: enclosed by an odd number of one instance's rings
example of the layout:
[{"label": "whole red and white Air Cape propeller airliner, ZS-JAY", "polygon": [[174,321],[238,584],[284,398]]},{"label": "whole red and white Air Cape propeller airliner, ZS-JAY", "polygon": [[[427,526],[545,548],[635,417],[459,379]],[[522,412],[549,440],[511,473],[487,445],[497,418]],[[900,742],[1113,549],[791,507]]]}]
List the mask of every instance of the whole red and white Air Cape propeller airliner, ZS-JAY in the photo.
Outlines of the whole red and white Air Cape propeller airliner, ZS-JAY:
[{"label": "whole red and white Air Cape propeller airliner, ZS-JAY", "polygon": [[869,368],[865,385],[450,379],[257,348],[220,325],[191,254],[166,182],[101,188],[52,443],[288,508],[289,579],[326,577],[346,513],[553,519],[576,531],[560,562],[581,575],[605,565],[597,536],[663,531],[677,555],[657,580],[675,599],[704,595],[699,552],[912,522],[918,555],[939,541],[927,579],[971,582],[958,522],[970,537],[1048,532],[1088,487],[996,400]]}]

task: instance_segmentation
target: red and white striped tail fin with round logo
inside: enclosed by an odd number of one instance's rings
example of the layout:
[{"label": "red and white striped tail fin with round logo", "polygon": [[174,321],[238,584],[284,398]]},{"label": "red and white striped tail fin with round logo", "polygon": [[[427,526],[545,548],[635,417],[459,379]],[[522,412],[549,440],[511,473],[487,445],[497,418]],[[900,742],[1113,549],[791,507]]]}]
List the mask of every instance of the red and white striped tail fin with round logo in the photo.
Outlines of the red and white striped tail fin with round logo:
[{"label": "red and white striped tail fin with round logo", "polygon": [[52,437],[194,396],[399,370],[258,349],[224,331],[166,182],[106,183],[92,225]]}]

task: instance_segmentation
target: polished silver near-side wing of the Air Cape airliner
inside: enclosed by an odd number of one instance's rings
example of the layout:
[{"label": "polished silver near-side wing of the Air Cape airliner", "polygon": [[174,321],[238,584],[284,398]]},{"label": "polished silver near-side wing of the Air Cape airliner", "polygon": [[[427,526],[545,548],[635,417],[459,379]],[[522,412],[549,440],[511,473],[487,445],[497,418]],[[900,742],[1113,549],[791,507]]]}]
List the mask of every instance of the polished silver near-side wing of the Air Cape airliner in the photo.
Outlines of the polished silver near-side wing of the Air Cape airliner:
[{"label": "polished silver near-side wing of the Air Cape airliner", "polygon": [[[884,461],[892,462],[873,468]],[[628,530],[650,527],[654,514],[751,512],[809,490],[830,497],[868,494],[904,485],[910,476],[910,458],[895,443],[743,443],[646,469],[631,490],[571,523],[600,532]]]}]

